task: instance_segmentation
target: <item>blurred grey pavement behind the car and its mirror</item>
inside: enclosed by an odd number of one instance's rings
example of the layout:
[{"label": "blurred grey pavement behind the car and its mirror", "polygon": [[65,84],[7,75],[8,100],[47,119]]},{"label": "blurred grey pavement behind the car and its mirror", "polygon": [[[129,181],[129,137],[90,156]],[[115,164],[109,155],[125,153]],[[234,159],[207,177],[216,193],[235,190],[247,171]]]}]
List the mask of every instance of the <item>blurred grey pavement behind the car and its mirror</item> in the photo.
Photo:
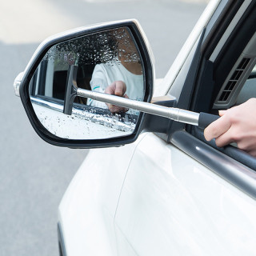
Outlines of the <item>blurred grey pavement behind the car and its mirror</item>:
[{"label": "blurred grey pavement behind the car and its mirror", "polygon": [[0,0],[0,256],[58,255],[58,204],[87,150],[51,146],[35,134],[13,82],[52,34],[136,18],[163,78],[207,0]]}]

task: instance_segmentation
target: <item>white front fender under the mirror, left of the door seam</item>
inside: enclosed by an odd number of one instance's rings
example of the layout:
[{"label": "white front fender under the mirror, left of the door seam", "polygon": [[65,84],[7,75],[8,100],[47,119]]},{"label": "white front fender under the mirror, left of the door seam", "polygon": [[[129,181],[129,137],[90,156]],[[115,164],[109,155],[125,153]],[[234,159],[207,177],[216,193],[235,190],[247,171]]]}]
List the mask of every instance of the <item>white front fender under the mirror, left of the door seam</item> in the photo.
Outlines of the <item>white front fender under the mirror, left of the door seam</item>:
[{"label": "white front fender under the mirror, left of the door seam", "polygon": [[130,158],[143,137],[122,150],[90,150],[59,206],[66,255],[118,254],[114,214]]}]

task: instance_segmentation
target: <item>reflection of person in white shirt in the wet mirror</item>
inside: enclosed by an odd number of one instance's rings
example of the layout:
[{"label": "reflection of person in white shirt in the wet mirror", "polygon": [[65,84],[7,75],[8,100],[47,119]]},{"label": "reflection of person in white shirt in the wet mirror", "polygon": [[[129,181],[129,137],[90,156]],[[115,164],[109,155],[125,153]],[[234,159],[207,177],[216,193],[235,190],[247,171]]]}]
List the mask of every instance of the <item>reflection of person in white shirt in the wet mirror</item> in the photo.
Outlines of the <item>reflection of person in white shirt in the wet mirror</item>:
[{"label": "reflection of person in white shirt in the wet mirror", "polygon": [[[90,80],[91,90],[118,95],[142,101],[144,83],[142,64],[133,38],[126,30],[118,30],[114,38],[117,50],[107,62],[95,66]],[[126,112],[126,108],[105,104],[89,99],[90,106],[108,107],[111,113]],[[128,114],[138,114],[137,110],[128,110]]]}]

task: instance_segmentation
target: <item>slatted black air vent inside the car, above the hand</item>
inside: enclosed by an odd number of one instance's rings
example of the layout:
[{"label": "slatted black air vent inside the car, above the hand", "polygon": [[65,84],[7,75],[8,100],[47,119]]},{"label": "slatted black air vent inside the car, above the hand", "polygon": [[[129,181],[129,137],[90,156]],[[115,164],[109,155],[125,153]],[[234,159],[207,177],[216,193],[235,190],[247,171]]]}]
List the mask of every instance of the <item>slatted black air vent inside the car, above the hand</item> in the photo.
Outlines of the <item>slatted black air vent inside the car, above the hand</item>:
[{"label": "slatted black air vent inside the car, above the hand", "polygon": [[232,90],[234,90],[234,87],[236,86],[238,80],[241,78],[243,71],[246,70],[246,66],[248,65],[249,62],[250,62],[250,58],[242,59],[237,69],[234,70],[234,73],[232,74],[229,82],[227,82],[224,90],[222,91],[221,96],[218,99],[218,102],[227,101],[227,99],[230,97]]}]

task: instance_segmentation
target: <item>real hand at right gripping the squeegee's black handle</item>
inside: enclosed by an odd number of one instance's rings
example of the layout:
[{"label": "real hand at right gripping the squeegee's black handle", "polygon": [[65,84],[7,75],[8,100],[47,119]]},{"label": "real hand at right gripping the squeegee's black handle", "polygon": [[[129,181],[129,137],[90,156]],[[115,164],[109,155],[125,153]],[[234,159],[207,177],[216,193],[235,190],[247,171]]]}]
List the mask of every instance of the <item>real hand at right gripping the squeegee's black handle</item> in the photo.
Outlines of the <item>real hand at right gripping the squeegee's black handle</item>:
[{"label": "real hand at right gripping the squeegee's black handle", "polygon": [[230,108],[220,110],[218,118],[204,130],[207,141],[213,138],[219,147],[236,142],[238,148],[256,157],[256,98]]}]

